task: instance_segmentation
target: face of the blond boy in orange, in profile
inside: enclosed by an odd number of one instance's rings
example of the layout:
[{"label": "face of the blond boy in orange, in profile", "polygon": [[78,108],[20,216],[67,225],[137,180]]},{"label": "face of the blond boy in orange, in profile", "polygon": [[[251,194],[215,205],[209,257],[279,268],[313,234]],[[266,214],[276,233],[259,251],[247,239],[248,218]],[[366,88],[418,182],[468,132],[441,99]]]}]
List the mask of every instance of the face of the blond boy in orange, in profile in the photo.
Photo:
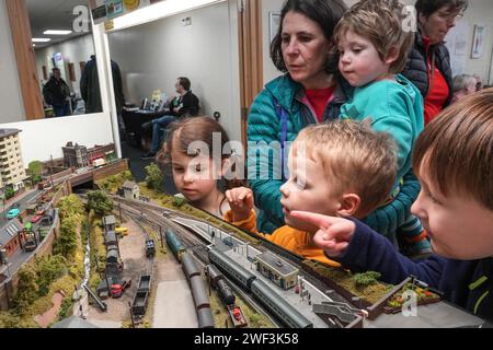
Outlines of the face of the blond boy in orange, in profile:
[{"label": "face of the blond boy in orange, in profile", "polygon": [[[295,147],[294,147],[295,148]],[[294,210],[310,211],[325,215],[336,215],[341,195],[326,176],[321,162],[316,162],[306,153],[289,154],[289,179],[280,187],[280,205],[287,225],[308,232],[317,228],[290,217]]]}]

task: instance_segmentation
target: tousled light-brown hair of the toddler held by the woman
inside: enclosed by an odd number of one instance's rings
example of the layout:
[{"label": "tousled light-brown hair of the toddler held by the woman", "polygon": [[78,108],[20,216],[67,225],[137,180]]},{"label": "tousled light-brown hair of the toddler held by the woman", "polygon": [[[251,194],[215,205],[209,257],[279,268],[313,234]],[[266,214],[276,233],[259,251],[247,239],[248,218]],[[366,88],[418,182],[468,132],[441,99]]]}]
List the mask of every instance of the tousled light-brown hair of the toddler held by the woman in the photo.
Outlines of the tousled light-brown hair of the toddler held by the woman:
[{"label": "tousled light-brown hair of the toddler held by the woman", "polygon": [[414,33],[404,31],[404,5],[398,0],[362,0],[353,5],[335,27],[335,42],[339,43],[348,31],[368,38],[383,61],[393,48],[399,56],[390,65],[390,73],[400,73],[408,61],[414,44]]}]

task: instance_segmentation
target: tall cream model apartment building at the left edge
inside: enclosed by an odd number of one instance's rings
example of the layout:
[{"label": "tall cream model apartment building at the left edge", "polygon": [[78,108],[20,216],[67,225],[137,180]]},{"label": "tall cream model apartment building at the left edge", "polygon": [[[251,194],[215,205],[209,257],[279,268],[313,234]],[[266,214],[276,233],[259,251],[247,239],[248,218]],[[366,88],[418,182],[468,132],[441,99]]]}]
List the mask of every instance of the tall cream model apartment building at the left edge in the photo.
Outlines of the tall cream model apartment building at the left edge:
[{"label": "tall cream model apartment building at the left edge", "polygon": [[0,129],[0,188],[12,185],[15,190],[24,187],[26,178],[22,162],[18,129]]}]

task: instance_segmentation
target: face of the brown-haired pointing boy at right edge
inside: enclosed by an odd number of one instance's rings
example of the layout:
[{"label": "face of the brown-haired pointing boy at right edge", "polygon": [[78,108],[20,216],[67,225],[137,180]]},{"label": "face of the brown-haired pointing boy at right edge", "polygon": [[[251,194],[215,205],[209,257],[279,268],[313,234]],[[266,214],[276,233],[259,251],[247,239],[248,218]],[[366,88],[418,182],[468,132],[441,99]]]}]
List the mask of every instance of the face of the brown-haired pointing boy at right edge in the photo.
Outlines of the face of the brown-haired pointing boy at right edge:
[{"label": "face of the brown-haired pointing boy at right edge", "polygon": [[443,257],[473,260],[493,256],[493,211],[450,190],[445,197],[422,167],[421,192],[411,211],[419,215]]}]

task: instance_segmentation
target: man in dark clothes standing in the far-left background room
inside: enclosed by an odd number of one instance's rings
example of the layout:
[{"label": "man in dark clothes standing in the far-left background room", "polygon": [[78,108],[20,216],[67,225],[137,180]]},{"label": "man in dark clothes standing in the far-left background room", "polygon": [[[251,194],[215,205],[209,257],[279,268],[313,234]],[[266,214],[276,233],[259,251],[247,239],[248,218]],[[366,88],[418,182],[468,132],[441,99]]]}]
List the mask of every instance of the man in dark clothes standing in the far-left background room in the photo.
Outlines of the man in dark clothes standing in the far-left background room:
[{"label": "man in dark clothes standing in the far-left background room", "polygon": [[53,106],[56,117],[69,116],[70,113],[70,88],[60,77],[58,68],[53,69],[53,75],[43,88],[43,97],[48,105]]}]

